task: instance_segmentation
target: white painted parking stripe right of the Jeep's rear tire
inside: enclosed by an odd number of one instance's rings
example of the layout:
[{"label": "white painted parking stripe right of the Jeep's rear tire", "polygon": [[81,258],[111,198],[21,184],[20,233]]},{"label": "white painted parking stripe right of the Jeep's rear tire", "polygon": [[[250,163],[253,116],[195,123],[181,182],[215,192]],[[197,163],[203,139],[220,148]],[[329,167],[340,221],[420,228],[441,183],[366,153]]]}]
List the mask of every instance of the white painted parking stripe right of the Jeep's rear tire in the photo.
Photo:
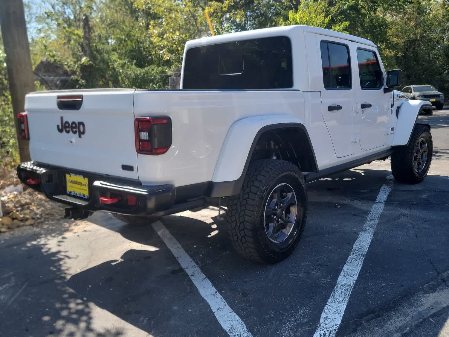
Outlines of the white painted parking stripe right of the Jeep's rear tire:
[{"label": "white painted parking stripe right of the Jeep's rear tire", "polygon": [[335,333],[337,333],[344,310],[348,304],[349,296],[356,283],[363,259],[370,247],[374,230],[379,222],[380,214],[383,211],[383,206],[385,205],[385,201],[387,200],[392,186],[393,182],[391,181],[380,188],[379,195],[377,195],[377,199],[374,202],[373,207],[371,207],[365,225],[352,247],[352,252],[340,273],[337,284],[321,313],[320,324],[318,324],[317,331],[313,337],[334,337]]}]

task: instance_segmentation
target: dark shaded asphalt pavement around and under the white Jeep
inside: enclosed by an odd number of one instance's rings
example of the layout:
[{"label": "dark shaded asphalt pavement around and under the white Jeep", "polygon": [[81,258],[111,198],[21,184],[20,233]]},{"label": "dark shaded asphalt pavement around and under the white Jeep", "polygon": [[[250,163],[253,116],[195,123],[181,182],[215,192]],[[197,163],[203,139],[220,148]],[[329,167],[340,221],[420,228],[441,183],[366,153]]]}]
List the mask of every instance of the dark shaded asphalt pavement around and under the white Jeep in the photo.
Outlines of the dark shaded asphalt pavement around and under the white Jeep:
[{"label": "dark shaded asphalt pavement around and under the white Jeep", "polygon": [[[274,266],[240,258],[231,248],[225,222],[218,221],[218,213],[212,218],[210,212],[203,217],[201,212],[195,213],[204,221],[168,216],[162,222],[254,336],[294,336],[298,333],[312,336],[352,244],[389,173],[387,170],[358,168],[309,183],[308,224],[303,238],[291,257]],[[368,257],[372,263],[364,265],[362,270],[371,280],[376,280],[382,272],[376,261],[384,259],[383,242],[388,242],[390,250],[411,245],[409,235],[404,233],[414,228],[410,222],[419,217],[418,208],[426,208],[434,201],[440,203],[441,209],[432,208],[435,221],[431,218],[429,222],[427,213],[427,219],[424,219],[423,213],[421,221],[427,222],[420,229],[424,233],[417,232],[421,235],[421,241],[417,240],[421,248],[407,263],[424,270],[430,266],[431,259],[437,270],[448,268],[448,259],[439,255],[445,244],[441,222],[448,211],[448,190],[448,177],[428,176],[422,184],[413,186],[394,182],[387,200],[387,205],[392,204],[394,210],[386,212],[385,217],[388,224],[397,223],[397,226],[394,231],[390,228],[385,231],[383,240],[376,241],[379,248],[374,245],[372,252],[369,251],[374,254]],[[414,203],[416,213],[413,210],[409,213],[411,203]],[[402,212],[405,208],[407,212]],[[100,219],[104,221],[104,217]],[[383,217],[376,235],[383,233],[385,224],[382,221]],[[96,223],[116,230],[107,221],[101,222],[97,218]],[[5,336],[129,334],[114,328],[108,321],[103,322],[107,329],[96,326],[96,321],[107,319],[98,309],[101,308],[153,336],[226,336],[207,302],[151,226],[117,228],[127,240],[159,249],[129,249],[119,259],[114,257],[70,275],[62,263],[70,258],[65,249],[73,251],[82,247],[64,246],[65,236],[59,237],[59,250],[48,249],[45,243],[48,238],[5,241],[0,246],[0,255],[4,257],[0,269],[3,322],[0,334],[1,331]],[[413,245],[409,249],[418,251]],[[394,252],[387,250],[387,253]],[[409,251],[399,254],[404,253],[409,254]],[[409,268],[402,265],[405,257],[390,260],[401,263],[387,267],[392,278],[395,273],[404,273]],[[354,322],[365,322],[364,317],[376,308],[388,310],[388,303],[393,298],[406,300],[407,294],[416,293],[421,285],[437,277],[435,273],[415,274],[409,281],[397,275],[406,286],[392,288],[394,290],[380,300],[373,297],[383,290],[378,284],[381,281],[373,282],[369,289],[355,288],[356,293],[361,292],[360,300],[355,306],[348,305],[350,321],[343,319],[343,326],[357,331]],[[363,275],[361,280],[364,282]],[[267,321],[267,317],[273,317],[276,312],[284,313],[277,317],[276,324]],[[434,331],[428,334],[437,335]]]}]

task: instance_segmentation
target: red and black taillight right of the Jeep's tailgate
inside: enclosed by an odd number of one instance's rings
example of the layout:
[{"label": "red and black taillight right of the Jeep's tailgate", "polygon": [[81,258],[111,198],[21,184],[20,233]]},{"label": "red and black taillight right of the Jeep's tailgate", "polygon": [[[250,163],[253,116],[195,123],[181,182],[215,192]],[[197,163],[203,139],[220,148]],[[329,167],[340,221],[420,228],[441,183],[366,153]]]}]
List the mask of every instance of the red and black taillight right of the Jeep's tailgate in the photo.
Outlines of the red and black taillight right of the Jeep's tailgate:
[{"label": "red and black taillight right of the Jeep's tailgate", "polygon": [[162,155],[172,145],[170,117],[138,117],[134,120],[136,151],[144,155]]}]

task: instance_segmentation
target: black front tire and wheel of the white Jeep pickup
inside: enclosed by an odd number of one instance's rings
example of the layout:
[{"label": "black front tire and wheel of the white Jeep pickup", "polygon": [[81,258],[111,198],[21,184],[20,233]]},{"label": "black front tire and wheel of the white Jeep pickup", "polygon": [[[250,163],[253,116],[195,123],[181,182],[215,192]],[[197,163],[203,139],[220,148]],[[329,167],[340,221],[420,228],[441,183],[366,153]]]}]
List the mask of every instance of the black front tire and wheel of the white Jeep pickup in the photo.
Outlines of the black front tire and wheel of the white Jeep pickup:
[{"label": "black front tire and wheel of the white Jeep pickup", "polygon": [[430,130],[424,125],[415,125],[409,144],[398,146],[392,154],[393,177],[405,184],[422,182],[429,172],[432,151]]}]

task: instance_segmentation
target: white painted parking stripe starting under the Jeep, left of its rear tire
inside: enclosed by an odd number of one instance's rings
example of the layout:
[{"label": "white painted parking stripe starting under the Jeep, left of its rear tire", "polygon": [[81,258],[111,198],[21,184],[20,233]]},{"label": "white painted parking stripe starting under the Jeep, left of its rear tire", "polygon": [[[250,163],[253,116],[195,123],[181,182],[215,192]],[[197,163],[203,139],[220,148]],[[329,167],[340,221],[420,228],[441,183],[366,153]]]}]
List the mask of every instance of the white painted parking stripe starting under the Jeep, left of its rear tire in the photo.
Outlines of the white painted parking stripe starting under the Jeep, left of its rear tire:
[{"label": "white painted parking stripe starting under the Jeep, left of its rear tire", "polygon": [[252,337],[245,323],[238,315],[228,306],[225,299],[202,273],[196,263],[189,257],[180,243],[170,234],[162,222],[156,221],[152,224],[154,230],[161,237],[163,242],[172,251],[181,267],[198,288],[201,296],[209,303],[211,309],[225,331],[231,337]]}]

